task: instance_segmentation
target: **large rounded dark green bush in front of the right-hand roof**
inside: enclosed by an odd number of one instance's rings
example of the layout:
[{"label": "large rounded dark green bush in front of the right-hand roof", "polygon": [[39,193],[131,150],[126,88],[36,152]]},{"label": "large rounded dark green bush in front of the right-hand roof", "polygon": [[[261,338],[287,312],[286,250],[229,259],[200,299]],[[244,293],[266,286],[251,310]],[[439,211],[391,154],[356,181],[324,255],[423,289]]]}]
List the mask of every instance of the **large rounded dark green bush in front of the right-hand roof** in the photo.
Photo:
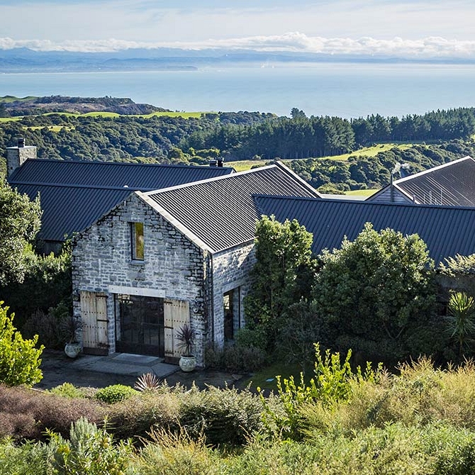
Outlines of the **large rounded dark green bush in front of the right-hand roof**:
[{"label": "large rounded dark green bush in front of the right-hand roof", "polygon": [[365,352],[362,340],[373,342],[376,353],[367,355],[395,362],[409,356],[404,341],[430,325],[435,308],[433,262],[423,240],[391,229],[378,233],[367,223],[354,242],[344,240],[319,258],[313,296],[330,342]]}]

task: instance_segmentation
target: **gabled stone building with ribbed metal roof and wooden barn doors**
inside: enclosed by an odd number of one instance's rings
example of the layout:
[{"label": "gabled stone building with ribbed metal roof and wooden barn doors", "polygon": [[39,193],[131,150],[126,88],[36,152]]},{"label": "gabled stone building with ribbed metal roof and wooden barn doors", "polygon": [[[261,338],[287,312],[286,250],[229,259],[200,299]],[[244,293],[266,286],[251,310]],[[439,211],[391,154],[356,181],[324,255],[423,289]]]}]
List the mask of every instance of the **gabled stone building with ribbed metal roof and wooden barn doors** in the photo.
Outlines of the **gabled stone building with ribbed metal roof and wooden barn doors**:
[{"label": "gabled stone building with ribbed metal roof and wooden barn doors", "polygon": [[74,239],[74,315],[84,351],[156,354],[174,362],[177,329],[196,356],[244,325],[257,196],[319,198],[282,164],[150,192],[136,191]]}]

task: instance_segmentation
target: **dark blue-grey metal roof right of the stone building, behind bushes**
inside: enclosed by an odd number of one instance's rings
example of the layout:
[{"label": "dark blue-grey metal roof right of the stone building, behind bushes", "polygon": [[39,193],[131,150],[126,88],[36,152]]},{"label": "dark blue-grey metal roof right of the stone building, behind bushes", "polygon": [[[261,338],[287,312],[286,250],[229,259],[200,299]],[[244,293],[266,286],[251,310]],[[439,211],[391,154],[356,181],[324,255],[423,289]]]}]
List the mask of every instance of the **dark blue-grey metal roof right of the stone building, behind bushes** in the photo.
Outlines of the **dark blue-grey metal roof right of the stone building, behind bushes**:
[{"label": "dark blue-grey metal roof right of the stone building, behind bushes", "polygon": [[315,253],[354,240],[364,223],[375,230],[392,228],[404,235],[418,234],[436,264],[445,257],[475,253],[475,209],[454,206],[414,206],[368,201],[315,200],[255,196],[260,213],[277,220],[298,220],[313,233]]}]

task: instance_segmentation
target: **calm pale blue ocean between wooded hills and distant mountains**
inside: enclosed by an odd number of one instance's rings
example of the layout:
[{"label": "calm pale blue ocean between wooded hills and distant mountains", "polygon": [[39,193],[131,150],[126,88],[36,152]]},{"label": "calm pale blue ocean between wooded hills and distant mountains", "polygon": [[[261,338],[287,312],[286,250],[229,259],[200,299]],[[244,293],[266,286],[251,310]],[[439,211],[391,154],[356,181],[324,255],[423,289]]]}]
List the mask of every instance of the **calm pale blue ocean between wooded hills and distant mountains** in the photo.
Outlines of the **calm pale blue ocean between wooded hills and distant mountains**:
[{"label": "calm pale blue ocean between wooded hills and distant mountains", "polygon": [[0,96],[128,97],[172,111],[342,118],[475,106],[475,65],[264,64],[188,71],[0,73]]}]

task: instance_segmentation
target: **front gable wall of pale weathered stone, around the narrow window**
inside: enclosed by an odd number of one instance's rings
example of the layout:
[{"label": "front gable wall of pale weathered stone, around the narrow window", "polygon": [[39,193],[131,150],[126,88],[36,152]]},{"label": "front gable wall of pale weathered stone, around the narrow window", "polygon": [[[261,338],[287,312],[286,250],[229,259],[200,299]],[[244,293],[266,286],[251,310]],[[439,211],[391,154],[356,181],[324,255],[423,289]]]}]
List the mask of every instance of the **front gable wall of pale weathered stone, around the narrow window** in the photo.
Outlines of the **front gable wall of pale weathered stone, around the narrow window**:
[{"label": "front gable wall of pale weathered stone, around the narrow window", "polygon": [[[132,260],[130,223],[144,223],[144,260]],[[108,296],[108,352],[115,352],[114,294],[189,301],[196,350],[203,364],[206,341],[203,250],[167,220],[131,194],[74,240],[73,292],[104,292]],[[74,301],[74,315],[80,302]]]}]

